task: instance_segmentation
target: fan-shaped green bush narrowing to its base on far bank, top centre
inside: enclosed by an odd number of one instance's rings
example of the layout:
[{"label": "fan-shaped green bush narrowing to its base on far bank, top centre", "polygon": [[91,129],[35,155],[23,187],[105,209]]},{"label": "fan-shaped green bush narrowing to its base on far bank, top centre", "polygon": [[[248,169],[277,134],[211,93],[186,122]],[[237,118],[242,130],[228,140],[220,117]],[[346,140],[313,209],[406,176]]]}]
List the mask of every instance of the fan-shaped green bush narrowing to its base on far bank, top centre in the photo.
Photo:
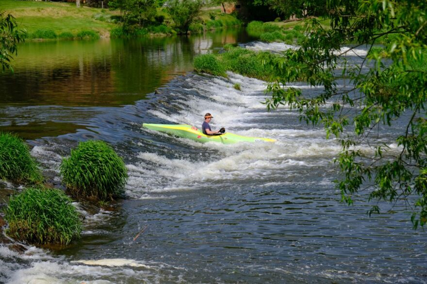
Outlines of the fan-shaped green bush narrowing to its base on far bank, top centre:
[{"label": "fan-shaped green bush narrowing to its base on far bank, top centre", "polygon": [[168,0],[166,8],[179,33],[188,33],[203,7],[201,0]]}]

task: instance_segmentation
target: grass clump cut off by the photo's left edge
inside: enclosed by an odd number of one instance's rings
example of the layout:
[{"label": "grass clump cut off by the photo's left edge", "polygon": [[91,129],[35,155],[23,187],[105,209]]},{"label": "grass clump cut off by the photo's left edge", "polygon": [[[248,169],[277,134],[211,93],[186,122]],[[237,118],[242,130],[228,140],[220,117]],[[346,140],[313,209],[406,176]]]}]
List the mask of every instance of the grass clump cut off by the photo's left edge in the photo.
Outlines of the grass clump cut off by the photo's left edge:
[{"label": "grass clump cut off by the photo's left edge", "polygon": [[28,146],[10,133],[0,132],[0,179],[30,183],[42,181]]}]

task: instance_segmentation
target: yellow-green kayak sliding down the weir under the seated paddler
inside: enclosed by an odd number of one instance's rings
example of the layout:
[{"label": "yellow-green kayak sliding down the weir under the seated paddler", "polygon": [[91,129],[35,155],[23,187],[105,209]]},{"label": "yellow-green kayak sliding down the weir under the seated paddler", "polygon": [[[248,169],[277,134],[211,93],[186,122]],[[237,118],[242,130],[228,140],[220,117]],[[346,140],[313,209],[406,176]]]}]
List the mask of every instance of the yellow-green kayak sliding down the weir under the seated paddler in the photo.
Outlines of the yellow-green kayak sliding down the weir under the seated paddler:
[{"label": "yellow-green kayak sliding down the weir under the seated paddler", "polygon": [[173,136],[187,138],[196,142],[219,142],[223,144],[233,144],[237,142],[276,142],[274,139],[247,137],[233,133],[224,133],[221,135],[205,135],[197,127],[188,124],[147,124],[142,125],[151,130],[156,130]]}]

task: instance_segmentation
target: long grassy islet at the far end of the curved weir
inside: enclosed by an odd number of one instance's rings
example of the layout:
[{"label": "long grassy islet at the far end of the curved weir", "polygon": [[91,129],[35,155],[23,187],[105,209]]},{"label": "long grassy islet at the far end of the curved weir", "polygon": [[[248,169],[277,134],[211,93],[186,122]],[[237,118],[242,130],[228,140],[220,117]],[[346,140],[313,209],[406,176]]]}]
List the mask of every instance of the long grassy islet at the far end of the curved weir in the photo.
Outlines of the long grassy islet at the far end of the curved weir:
[{"label": "long grassy islet at the far end of the curved weir", "polygon": [[276,76],[271,67],[263,65],[263,52],[232,46],[225,46],[225,49],[226,51],[223,53],[197,56],[194,60],[195,70],[224,77],[226,77],[225,71],[232,71],[247,77],[264,80]]}]

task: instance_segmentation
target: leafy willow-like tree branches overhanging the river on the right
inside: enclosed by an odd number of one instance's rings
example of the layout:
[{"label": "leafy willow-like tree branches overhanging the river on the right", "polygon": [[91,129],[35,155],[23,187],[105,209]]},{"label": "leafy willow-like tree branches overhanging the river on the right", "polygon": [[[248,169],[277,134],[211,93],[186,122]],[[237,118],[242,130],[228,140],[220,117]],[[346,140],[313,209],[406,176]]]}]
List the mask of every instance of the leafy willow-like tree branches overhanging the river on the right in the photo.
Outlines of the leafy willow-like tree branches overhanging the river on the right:
[{"label": "leafy willow-like tree branches overhanging the river on the right", "polygon": [[[427,222],[427,2],[412,0],[307,0],[292,9],[316,9],[330,20],[306,25],[310,36],[298,50],[282,58],[266,56],[264,62],[280,72],[270,82],[268,109],[288,104],[310,124],[323,124],[326,135],[336,136],[342,151],[336,162],[343,178],[337,181],[342,200],[369,190],[369,200],[404,203],[416,228]],[[302,6],[301,6],[302,4]],[[302,7],[302,8],[301,8]],[[373,47],[381,42],[383,50]],[[369,48],[361,66],[346,64],[341,47],[353,43]],[[385,63],[384,59],[388,62]],[[368,63],[371,64],[368,64]],[[365,71],[366,70],[366,71]],[[353,87],[342,89],[336,79]],[[306,80],[324,86],[315,97],[287,87]],[[398,151],[372,141],[374,132],[404,123],[394,136]],[[350,133],[347,132],[351,129]],[[371,153],[358,149],[361,141]],[[374,142],[374,144],[372,144]],[[378,203],[368,213],[379,213]]]}]

